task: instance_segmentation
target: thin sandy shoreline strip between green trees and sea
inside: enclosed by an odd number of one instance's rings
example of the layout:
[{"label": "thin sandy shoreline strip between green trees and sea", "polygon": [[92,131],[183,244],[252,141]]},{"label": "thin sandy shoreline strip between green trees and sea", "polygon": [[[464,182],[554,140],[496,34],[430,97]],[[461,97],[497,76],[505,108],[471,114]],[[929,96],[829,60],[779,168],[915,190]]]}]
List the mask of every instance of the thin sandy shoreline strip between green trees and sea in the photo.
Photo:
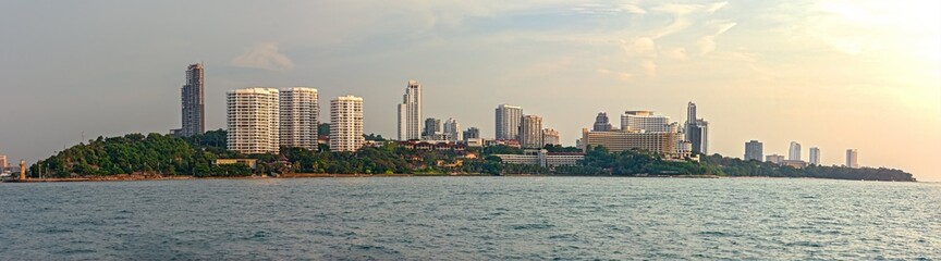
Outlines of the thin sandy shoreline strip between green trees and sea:
[{"label": "thin sandy shoreline strip between green trees and sea", "polygon": [[190,181],[190,179],[292,179],[292,178],[351,178],[351,177],[627,177],[627,178],[807,178],[827,181],[863,181],[863,182],[906,182],[919,183],[918,181],[867,181],[867,179],[840,179],[820,177],[774,177],[774,176],[719,176],[719,175],[548,175],[548,174],[317,174],[317,173],[291,173],[277,176],[162,176],[162,175],[112,175],[100,177],[64,177],[64,178],[27,178],[7,179],[2,183],[75,183],[75,182],[146,182],[146,181]]}]

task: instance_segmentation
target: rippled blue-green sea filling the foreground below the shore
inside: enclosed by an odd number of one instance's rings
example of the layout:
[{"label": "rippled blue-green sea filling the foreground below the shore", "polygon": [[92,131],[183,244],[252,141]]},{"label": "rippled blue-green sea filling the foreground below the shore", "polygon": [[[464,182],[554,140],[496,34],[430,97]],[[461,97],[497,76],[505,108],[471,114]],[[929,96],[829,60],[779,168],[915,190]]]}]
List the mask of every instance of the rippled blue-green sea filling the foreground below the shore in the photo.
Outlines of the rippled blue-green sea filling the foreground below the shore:
[{"label": "rippled blue-green sea filling the foreground below the shore", "polygon": [[0,184],[0,260],[941,260],[941,184],[338,177]]}]

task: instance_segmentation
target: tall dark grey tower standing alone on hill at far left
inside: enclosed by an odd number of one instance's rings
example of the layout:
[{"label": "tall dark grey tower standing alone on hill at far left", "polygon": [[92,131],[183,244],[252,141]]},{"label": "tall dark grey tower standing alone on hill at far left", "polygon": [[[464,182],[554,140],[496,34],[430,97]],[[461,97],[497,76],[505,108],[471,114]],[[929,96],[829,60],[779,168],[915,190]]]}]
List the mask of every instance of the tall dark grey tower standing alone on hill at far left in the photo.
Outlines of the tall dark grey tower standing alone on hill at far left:
[{"label": "tall dark grey tower standing alone on hill at far left", "polygon": [[203,99],[203,64],[186,67],[186,84],[183,85],[183,127],[179,135],[190,137],[206,132],[206,108]]}]

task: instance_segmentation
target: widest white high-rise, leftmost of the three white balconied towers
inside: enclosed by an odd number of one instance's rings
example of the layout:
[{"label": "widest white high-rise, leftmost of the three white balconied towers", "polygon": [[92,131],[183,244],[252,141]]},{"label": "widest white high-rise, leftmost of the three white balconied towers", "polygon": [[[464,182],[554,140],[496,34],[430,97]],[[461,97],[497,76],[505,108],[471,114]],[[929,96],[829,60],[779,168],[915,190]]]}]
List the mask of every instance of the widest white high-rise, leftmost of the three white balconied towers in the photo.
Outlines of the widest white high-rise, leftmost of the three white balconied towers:
[{"label": "widest white high-rise, leftmost of the three white balconied towers", "polygon": [[245,154],[278,153],[278,89],[272,88],[247,88],[227,92],[229,150]]}]

